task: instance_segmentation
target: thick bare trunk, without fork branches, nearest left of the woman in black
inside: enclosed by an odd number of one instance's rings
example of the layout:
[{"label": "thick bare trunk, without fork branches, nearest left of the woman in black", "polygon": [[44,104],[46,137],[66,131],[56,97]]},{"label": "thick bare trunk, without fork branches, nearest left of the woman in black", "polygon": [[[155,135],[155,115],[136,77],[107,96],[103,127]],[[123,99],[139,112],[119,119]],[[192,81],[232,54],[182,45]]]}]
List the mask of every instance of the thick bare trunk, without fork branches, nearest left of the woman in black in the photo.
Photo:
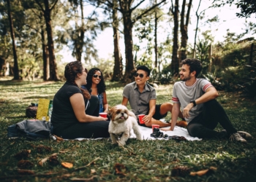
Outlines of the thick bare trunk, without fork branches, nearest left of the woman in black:
[{"label": "thick bare trunk, without fork branches, nearest left of the woman in black", "polygon": [[50,60],[50,78],[49,80],[58,81],[59,76],[57,74],[57,65],[56,65],[56,58],[54,54],[54,44],[53,44],[53,30],[51,27],[51,19],[50,19],[50,12],[51,9],[49,8],[49,1],[44,0],[45,4],[45,23],[46,23],[46,31],[47,31],[47,38],[48,38],[48,52],[49,52],[49,60]]}]

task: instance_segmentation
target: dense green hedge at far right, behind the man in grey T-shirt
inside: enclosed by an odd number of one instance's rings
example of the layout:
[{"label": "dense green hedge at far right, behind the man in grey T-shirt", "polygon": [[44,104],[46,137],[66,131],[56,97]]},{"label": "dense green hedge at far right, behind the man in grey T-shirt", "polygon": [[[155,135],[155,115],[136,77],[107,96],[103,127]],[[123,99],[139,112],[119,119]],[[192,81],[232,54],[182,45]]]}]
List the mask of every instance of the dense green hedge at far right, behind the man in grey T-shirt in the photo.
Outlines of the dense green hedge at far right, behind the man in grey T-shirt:
[{"label": "dense green hedge at far right, behind the man in grey T-shirt", "polygon": [[218,90],[243,92],[244,95],[255,98],[255,67],[246,66],[255,40],[248,38],[238,41],[241,37],[227,31],[225,41],[214,46],[212,72],[207,71],[207,63],[203,64],[206,70],[202,76]]}]

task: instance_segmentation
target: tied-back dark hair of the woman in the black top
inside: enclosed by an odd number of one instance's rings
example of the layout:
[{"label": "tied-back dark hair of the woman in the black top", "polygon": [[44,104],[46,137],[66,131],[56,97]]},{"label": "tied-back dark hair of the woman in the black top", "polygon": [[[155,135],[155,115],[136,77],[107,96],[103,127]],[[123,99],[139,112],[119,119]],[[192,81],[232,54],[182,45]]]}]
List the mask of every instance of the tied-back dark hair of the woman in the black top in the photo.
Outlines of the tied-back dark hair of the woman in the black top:
[{"label": "tied-back dark hair of the woman in the black top", "polygon": [[[67,80],[67,82],[74,84],[78,87],[78,84],[75,83],[75,79],[78,77],[78,74],[83,73],[83,66],[82,63],[78,60],[72,61],[70,63],[67,63],[65,66],[64,76]],[[85,90],[83,88],[80,88],[80,90],[83,93],[83,98],[90,99],[91,95],[88,90]]]}]

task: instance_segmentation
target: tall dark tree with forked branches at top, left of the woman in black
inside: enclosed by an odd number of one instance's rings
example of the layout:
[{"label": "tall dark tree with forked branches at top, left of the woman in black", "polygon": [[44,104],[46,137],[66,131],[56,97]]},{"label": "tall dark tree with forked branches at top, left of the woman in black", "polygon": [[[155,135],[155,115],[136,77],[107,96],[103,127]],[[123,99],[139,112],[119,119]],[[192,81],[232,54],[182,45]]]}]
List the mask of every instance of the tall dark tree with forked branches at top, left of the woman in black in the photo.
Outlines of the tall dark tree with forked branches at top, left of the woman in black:
[{"label": "tall dark tree with forked branches at top, left of the woman in black", "polygon": [[56,6],[57,2],[59,0],[53,1],[52,4],[49,3],[49,0],[43,0],[43,5],[41,4],[41,1],[34,0],[39,6],[39,9],[42,11],[44,17],[45,17],[45,24],[46,24],[46,31],[47,31],[47,39],[48,39],[48,53],[49,53],[49,61],[50,61],[50,78],[49,80],[59,80],[58,76],[58,68],[56,64],[56,57],[54,53],[54,42],[53,42],[53,28],[51,25],[51,12]]}]

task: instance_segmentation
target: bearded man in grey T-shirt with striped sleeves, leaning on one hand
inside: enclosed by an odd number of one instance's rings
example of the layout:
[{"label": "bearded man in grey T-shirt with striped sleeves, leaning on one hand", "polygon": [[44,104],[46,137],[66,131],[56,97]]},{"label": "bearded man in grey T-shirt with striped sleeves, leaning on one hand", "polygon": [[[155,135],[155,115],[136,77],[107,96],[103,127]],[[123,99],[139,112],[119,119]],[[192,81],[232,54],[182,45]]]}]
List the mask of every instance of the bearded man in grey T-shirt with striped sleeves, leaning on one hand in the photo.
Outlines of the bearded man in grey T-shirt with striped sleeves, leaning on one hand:
[{"label": "bearded man in grey T-shirt with striped sleeves, leaning on one hand", "polygon": [[[181,82],[173,86],[173,110],[170,128],[162,130],[174,130],[178,113],[181,111],[188,122],[189,135],[198,138],[226,138],[246,142],[252,138],[248,132],[237,131],[228,119],[222,106],[215,100],[219,93],[206,79],[197,79],[202,71],[200,60],[182,60],[180,74]],[[225,130],[214,130],[217,124],[221,124]]]}]

